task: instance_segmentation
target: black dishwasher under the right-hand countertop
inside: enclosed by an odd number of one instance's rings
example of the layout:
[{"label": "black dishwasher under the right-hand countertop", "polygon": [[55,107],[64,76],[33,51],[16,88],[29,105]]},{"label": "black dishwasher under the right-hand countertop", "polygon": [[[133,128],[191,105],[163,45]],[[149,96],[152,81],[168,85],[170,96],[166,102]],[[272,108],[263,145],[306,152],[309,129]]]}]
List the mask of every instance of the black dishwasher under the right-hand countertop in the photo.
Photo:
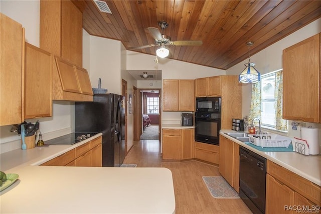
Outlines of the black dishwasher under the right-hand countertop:
[{"label": "black dishwasher under the right-hand countertop", "polygon": [[240,197],[256,213],[265,213],[266,159],[240,147]]}]

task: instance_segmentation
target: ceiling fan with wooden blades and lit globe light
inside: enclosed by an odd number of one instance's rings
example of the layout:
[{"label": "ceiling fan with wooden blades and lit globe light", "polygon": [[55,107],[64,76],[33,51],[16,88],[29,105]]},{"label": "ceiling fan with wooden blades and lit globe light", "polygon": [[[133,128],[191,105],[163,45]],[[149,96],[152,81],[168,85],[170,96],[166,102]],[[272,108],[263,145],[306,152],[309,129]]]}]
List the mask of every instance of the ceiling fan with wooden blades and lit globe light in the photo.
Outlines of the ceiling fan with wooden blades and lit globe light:
[{"label": "ceiling fan with wooden blades and lit globe light", "polygon": [[129,48],[131,50],[137,50],[137,49],[144,49],[154,46],[159,46],[159,48],[156,50],[156,55],[161,58],[165,58],[169,56],[170,51],[167,48],[167,46],[199,46],[202,45],[202,41],[195,41],[195,40],[188,40],[188,41],[171,41],[171,37],[164,34],[164,29],[169,27],[169,24],[166,21],[159,21],[158,26],[161,27],[162,33],[159,31],[158,28],[149,27],[147,28],[151,36],[155,40],[155,44],[140,46],[140,47],[133,47]]}]

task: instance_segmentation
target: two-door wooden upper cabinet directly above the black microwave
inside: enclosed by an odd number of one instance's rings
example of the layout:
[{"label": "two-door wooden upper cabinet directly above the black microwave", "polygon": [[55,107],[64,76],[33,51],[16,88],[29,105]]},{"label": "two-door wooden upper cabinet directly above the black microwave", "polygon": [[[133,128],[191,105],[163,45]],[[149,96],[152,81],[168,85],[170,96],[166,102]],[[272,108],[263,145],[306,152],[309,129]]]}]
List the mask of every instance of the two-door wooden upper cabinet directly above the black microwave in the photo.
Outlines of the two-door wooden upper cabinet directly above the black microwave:
[{"label": "two-door wooden upper cabinet directly above the black microwave", "polygon": [[221,96],[222,76],[205,77],[195,80],[195,97]]}]

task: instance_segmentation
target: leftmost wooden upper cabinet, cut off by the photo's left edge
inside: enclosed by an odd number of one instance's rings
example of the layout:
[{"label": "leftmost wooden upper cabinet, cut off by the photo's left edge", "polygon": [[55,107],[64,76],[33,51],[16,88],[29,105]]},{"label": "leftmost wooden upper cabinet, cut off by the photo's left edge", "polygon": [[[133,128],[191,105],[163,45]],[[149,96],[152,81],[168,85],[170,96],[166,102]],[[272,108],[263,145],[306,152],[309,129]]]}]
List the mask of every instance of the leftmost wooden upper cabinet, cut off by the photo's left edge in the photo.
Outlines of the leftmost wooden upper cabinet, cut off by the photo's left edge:
[{"label": "leftmost wooden upper cabinet, cut off by the photo's left edge", "polygon": [[24,121],[24,44],[21,24],[0,13],[0,126]]}]

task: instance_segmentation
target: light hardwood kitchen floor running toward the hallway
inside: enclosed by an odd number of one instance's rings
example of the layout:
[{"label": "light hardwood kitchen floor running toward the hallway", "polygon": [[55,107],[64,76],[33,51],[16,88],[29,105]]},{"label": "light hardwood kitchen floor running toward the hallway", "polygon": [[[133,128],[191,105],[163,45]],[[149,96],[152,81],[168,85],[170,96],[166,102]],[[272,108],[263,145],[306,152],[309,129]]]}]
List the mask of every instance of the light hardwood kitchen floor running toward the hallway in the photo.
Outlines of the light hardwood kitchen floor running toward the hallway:
[{"label": "light hardwood kitchen floor running toward the hallway", "polygon": [[124,163],[137,167],[166,167],[172,171],[176,213],[252,213],[241,199],[212,197],[202,176],[221,176],[217,166],[196,160],[162,162],[158,140],[135,141]]}]

